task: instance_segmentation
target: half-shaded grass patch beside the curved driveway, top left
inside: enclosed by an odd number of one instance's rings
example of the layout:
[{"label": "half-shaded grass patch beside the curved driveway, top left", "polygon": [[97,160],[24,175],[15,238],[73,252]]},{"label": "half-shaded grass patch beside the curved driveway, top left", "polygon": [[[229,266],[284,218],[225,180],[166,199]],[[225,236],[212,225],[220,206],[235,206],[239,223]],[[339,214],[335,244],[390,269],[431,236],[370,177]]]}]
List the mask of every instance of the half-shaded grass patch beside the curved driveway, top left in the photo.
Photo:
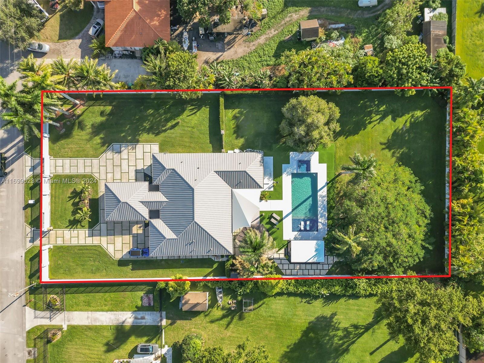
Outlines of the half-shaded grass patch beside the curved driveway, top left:
[{"label": "half-shaded grass patch beside the curved driveway, top left", "polygon": [[74,39],[89,24],[94,11],[91,1],[83,1],[82,9],[78,12],[69,9],[63,2],[59,2],[59,10],[56,12],[49,9],[48,0],[40,0],[39,4],[50,16],[40,31],[38,40],[48,43]]}]

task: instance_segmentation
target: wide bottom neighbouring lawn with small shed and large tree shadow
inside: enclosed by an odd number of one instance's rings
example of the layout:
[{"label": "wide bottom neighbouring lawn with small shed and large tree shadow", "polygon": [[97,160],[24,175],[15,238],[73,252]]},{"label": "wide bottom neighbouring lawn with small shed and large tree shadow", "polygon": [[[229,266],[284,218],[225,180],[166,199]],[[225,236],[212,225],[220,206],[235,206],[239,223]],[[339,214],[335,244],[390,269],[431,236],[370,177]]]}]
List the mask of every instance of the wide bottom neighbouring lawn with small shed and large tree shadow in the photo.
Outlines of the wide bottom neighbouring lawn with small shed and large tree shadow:
[{"label": "wide bottom neighbouring lawn with small shed and large tree shadow", "polygon": [[[216,307],[213,289],[206,291],[210,291],[207,312],[181,311],[179,299],[170,300],[164,293],[165,340],[175,347],[174,362],[181,362],[175,343],[191,333],[201,334],[205,346],[220,345],[226,350],[249,337],[250,347],[267,346],[271,362],[415,362],[403,342],[390,340],[376,298],[266,297],[261,293],[239,297],[224,288],[222,307]],[[253,312],[242,312],[242,298],[254,298]],[[237,299],[237,310],[229,309],[229,299]]]}]

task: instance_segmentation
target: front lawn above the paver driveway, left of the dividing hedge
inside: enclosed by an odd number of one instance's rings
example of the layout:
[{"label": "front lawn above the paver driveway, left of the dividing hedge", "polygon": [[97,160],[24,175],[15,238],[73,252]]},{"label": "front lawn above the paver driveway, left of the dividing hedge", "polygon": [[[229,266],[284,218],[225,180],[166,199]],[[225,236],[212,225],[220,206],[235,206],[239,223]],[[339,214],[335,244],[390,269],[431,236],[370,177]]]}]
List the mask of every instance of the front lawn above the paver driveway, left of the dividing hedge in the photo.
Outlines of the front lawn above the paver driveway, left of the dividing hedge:
[{"label": "front lawn above the paver driveway, left of the dividing hedge", "polygon": [[112,143],[157,142],[160,152],[220,152],[218,94],[183,100],[170,94],[87,98],[76,121],[50,129],[53,157],[98,157]]}]

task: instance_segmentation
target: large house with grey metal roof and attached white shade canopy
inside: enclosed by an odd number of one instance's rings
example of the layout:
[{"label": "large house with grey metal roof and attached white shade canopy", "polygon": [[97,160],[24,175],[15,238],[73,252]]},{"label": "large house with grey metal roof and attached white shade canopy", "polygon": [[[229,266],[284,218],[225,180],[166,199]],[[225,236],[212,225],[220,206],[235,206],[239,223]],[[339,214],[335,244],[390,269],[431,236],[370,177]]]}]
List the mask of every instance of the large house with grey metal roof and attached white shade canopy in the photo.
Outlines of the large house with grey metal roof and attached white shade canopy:
[{"label": "large house with grey metal roof and attached white shade canopy", "polygon": [[151,179],[106,182],[106,221],[149,221],[150,256],[234,253],[232,232],[258,219],[261,152],[154,153]]}]

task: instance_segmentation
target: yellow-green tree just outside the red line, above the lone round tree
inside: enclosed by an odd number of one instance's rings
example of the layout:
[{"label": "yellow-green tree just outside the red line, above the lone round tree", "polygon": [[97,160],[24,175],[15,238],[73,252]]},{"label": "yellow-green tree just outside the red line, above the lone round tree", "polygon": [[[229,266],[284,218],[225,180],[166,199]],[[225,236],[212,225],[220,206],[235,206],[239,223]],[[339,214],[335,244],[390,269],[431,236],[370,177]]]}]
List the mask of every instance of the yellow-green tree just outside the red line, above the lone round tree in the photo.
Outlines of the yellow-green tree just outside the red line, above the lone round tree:
[{"label": "yellow-green tree just outside the red line, above the lone round tree", "polygon": [[351,66],[327,54],[323,48],[306,49],[298,53],[285,51],[287,85],[292,88],[344,87],[353,81]]}]

